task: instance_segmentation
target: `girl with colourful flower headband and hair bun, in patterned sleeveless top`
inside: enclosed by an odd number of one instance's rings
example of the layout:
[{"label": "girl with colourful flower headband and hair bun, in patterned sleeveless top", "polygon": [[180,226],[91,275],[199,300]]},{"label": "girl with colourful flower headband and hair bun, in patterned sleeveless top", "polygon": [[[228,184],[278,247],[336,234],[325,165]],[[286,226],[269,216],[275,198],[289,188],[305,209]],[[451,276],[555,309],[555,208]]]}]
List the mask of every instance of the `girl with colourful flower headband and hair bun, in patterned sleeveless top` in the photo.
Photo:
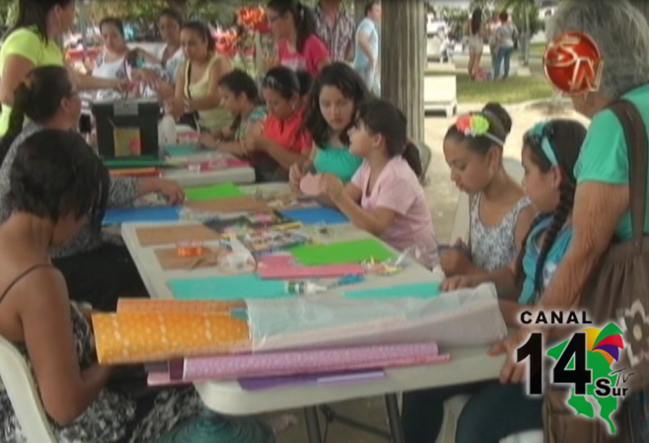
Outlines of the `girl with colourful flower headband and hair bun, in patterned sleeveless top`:
[{"label": "girl with colourful flower headband and hair bun, in patterned sleeveless top", "polygon": [[461,116],[444,138],[450,176],[467,192],[471,205],[469,246],[442,251],[439,263],[447,277],[491,272],[515,257],[534,215],[530,201],[502,164],[502,148],[511,118],[497,103]]}]

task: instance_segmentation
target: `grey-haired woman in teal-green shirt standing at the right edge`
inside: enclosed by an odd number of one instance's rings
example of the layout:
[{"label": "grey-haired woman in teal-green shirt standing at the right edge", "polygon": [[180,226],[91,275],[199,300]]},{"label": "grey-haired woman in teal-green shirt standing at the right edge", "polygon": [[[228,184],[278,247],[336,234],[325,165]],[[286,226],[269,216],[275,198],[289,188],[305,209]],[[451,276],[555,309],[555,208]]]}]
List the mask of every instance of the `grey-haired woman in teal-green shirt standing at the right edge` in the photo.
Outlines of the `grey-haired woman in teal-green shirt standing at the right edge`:
[{"label": "grey-haired woman in teal-green shirt standing at the right edge", "polygon": [[[601,77],[594,72],[593,78],[585,79],[589,83],[587,92],[570,95],[575,110],[591,119],[591,125],[574,169],[577,184],[572,241],[554,279],[541,297],[539,309],[565,310],[582,305],[582,300],[591,295],[587,286],[594,273],[597,273],[598,281],[602,277],[598,264],[607,255],[609,247],[631,240],[630,147],[626,146],[622,125],[609,105],[620,98],[630,101],[639,110],[649,131],[649,26],[640,11],[628,1],[620,0],[565,2],[554,15],[546,34],[552,41],[570,31],[583,32],[594,41],[601,53],[602,71],[599,73]],[[561,51],[570,54],[576,50],[573,45],[574,42],[566,39]],[[575,75],[589,74],[583,69],[585,61],[590,60],[573,60]],[[583,71],[576,71],[579,68]],[[594,70],[597,69],[594,66]],[[649,216],[645,215],[644,235],[647,233]],[[623,282],[620,280],[618,283],[622,285]],[[617,295],[611,294],[611,303],[615,303],[613,297]],[[637,294],[638,297],[643,295]],[[641,302],[641,306],[644,312],[649,312],[646,303]],[[622,315],[622,312],[618,314]],[[643,319],[643,322],[648,321]],[[639,327],[639,330],[643,336],[643,329]],[[550,331],[543,332],[547,335]],[[503,383],[522,381],[526,368],[524,364],[515,364],[515,355],[529,334],[530,327],[520,328],[494,349],[495,353],[508,353],[507,362],[500,372]],[[648,340],[646,335],[644,340]],[[625,403],[630,411],[649,411],[649,390],[628,395]],[[643,413],[631,413],[638,416],[629,422],[618,414],[618,424],[620,427],[627,422],[633,425],[632,432],[637,438],[633,441],[648,441],[649,420],[640,418]],[[584,435],[582,427],[578,431]]]}]

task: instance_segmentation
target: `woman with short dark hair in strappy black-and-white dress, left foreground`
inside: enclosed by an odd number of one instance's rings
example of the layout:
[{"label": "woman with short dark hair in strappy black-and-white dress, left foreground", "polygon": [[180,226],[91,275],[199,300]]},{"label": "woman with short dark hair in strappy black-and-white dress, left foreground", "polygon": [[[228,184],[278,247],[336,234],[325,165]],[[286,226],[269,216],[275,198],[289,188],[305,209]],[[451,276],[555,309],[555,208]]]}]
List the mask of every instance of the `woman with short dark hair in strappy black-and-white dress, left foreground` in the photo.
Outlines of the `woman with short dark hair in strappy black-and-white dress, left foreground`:
[{"label": "woman with short dark hair in strappy black-and-white dress, left foreground", "polygon": [[[49,250],[83,226],[99,231],[108,180],[79,134],[55,129],[24,140],[10,170],[10,216],[0,226],[0,335],[29,362],[56,441],[273,442],[259,422],[204,411],[191,386],[137,398],[106,387],[114,368],[97,363],[90,312],[70,303]],[[5,386],[0,410],[0,440],[26,441]]]}]

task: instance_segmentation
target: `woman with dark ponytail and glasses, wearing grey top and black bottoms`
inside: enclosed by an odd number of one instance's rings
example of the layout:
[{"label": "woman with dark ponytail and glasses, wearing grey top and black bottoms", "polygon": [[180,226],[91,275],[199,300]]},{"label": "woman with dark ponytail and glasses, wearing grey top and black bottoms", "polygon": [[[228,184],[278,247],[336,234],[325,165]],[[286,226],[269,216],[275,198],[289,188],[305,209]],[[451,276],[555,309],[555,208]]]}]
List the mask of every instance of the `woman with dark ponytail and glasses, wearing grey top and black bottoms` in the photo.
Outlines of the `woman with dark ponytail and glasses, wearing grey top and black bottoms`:
[{"label": "woman with dark ponytail and glasses, wearing grey top and black bottoms", "polygon": [[[43,66],[31,71],[14,93],[16,97],[9,129],[0,142],[0,221],[10,212],[6,194],[10,190],[9,173],[22,142],[44,129],[71,131],[81,112],[79,94],[69,74],[60,66]],[[23,129],[23,121],[31,120]],[[56,144],[50,146],[56,150]],[[184,194],[177,183],[156,178],[130,179],[111,177],[108,205],[132,205],[138,196],[159,192],[170,203],[178,203]],[[72,299],[88,301],[97,309],[116,307],[117,297],[141,296],[144,292],[140,275],[129,251],[119,246],[121,240],[93,231],[90,226],[79,230],[65,246],[51,251],[55,265],[66,278]],[[116,279],[115,275],[119,275]]]}]

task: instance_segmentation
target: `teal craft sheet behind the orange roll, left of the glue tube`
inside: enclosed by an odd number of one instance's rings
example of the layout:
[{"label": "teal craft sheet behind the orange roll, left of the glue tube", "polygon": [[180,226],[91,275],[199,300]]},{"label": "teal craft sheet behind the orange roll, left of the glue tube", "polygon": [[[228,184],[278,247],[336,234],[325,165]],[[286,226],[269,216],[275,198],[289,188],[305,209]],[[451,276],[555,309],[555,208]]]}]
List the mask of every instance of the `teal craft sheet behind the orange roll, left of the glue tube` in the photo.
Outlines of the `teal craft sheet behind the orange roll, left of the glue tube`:
[{"label": "teal craft sheet behind the orange roll, left of the glue tube", "polygon": [[169,287],[181,300],[239,300],[289,297],[286,282],[262,280],[256,274],[173,279]]}]

